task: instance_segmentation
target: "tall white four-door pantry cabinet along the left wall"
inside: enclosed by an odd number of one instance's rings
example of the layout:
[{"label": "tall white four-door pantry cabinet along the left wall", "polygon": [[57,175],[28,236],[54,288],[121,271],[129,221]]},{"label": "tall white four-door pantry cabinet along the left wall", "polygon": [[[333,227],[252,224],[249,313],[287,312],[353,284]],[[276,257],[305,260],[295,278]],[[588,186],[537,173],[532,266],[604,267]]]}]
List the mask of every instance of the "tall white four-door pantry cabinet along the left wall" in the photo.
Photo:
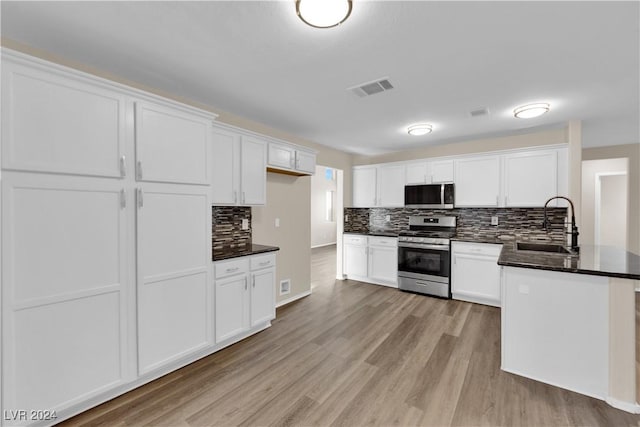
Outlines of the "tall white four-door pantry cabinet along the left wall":
[{"label": "tall white four-door pantry cabinet along the left wall", "polygon": [[215,117],[7,50],[2,65],[2,423],[51,424],[31,411],[64,417],[214,343]]}]

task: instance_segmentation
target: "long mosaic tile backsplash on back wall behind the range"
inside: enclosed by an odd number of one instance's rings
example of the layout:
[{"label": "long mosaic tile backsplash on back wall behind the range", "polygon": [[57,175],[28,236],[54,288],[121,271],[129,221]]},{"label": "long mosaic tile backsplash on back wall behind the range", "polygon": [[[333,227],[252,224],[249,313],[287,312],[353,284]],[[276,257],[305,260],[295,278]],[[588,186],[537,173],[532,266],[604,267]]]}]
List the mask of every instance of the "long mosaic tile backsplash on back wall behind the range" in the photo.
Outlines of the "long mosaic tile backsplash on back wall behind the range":
[{"label": "long mosaic tile backsplash on back wall behind the range", "polygon": [[[344,214],[344,231],[351,233],[398,233],[409,228],[412,215],[455,216],[459,238],[509,236],[516,240],[566,241],[567,208],[547,208],[547,218],[551,221],[548,232],[542,228],[544,208],[345,208]],[[498,217],[499,225],[491,225],[492,216]]]}]

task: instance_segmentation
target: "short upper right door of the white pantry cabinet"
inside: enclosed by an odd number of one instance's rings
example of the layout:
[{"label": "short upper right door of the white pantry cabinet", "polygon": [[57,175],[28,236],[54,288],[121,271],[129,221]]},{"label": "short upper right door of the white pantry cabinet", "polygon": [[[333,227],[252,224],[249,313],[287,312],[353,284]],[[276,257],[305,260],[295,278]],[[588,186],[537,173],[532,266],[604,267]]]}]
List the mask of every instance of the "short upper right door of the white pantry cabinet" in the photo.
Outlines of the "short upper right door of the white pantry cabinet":
[{"label": "short upper right door of the white pantry cabinet", "polygon": [[204,117],[136,102],[138,181],[209,185],[210,132]]}]

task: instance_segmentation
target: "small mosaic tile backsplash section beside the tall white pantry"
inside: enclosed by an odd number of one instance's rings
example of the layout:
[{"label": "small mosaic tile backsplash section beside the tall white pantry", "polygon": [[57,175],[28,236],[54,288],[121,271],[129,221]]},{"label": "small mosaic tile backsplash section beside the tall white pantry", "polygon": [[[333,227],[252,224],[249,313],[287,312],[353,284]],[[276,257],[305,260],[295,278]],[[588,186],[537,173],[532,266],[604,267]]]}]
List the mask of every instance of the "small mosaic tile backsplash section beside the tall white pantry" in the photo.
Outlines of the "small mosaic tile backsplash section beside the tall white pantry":
[{"label": "small mosaic tile backsplash section beside the tall white pantry", "polygon": [[[251,208],[213,206],[211,244],[213,252],[251,246]],[[242,229],[242,220],[249,221],[249,229]]]}]

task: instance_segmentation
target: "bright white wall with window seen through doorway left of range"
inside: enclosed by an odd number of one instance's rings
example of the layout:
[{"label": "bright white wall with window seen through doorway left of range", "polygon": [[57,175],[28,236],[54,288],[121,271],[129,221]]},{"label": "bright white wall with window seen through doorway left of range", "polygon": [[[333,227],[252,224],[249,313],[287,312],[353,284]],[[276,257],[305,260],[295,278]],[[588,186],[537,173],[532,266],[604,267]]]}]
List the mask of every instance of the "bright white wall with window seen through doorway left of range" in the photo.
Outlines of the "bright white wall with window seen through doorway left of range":
[{"label": "bright white wall with window seen through doorway left of range", "polygon": [[[331,168],[329,168],[331,169]],[[327,191],[333,191],[334,212],[337,213],[337,173],[335,169],[333,179],[326,179],[326,166],[316,165],[316,174],[311,177],[311,247],[325,246],[336,243],[336,220],[326,220]]]}]

